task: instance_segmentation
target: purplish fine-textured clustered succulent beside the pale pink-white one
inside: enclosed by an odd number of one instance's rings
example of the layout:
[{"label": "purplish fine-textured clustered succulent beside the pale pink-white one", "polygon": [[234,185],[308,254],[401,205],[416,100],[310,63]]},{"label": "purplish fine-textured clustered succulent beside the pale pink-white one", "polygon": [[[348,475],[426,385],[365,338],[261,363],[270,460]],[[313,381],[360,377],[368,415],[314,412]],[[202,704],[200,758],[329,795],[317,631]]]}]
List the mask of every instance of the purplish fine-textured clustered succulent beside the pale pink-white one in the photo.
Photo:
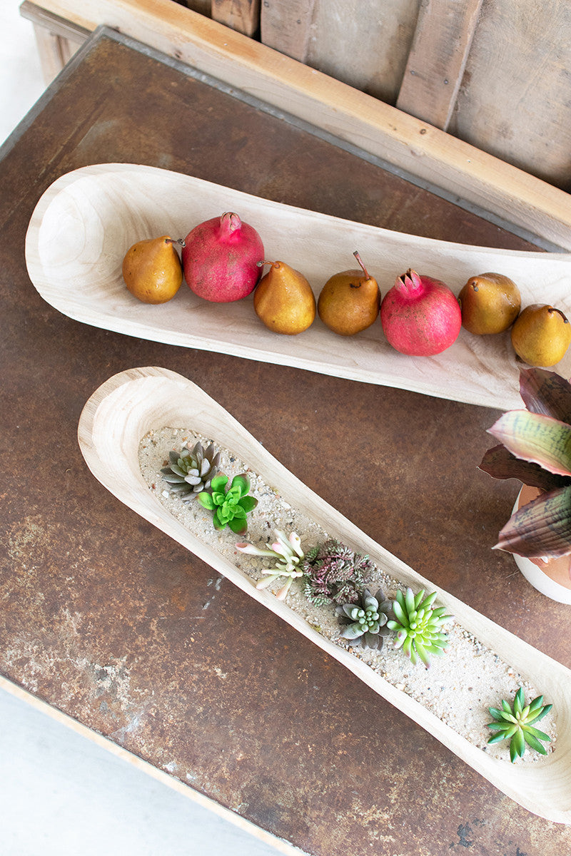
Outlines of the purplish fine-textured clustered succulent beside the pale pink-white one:
[{"label": "purplish fine-textured clustered succulent beside the pale pink-white one", "polygon": [[304,594],[316,606],[356,603],[373,565],[336,538],[308,550],[301,563]]}]

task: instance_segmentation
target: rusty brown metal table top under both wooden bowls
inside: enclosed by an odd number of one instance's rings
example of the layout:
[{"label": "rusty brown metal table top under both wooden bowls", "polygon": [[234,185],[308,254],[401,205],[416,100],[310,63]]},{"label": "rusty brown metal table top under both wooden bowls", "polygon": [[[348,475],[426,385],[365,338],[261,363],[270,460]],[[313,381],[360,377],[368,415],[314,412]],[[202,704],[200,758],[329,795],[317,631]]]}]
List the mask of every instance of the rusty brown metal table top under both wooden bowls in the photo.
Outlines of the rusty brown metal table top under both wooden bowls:
[{"label": "rusty brown metal table top under both wooden bowls", "polygon": [[530,245],[106,31],[2,154],[0,673],[315,856],[571,850],[570,829],[500,794],[117,502],[76,442],[81,408],[108,377],[180,372],[378,543],[571,666],[568,608],[491,550],[517,492],[476,468],[497,412],[88,327],[41,300],[24,259],[41,193],[104,162],[419,235]]}]

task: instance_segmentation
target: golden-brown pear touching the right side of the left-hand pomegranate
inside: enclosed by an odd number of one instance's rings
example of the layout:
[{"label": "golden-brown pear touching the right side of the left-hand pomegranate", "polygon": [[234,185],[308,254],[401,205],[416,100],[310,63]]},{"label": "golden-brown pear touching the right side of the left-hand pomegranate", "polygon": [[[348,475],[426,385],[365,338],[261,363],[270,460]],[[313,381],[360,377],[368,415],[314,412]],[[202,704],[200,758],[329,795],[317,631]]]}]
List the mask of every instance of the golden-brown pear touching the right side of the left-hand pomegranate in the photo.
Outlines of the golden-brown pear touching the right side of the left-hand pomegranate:
[{"label": "golden-brown pear touching the right side of the left-hand pomegranate", "polygon": [[299,270],[285,262],[271,265],[253,294],[253,308],[265,326],[276,333],[295,336],[313,324],[315,297],[312,287]]}]

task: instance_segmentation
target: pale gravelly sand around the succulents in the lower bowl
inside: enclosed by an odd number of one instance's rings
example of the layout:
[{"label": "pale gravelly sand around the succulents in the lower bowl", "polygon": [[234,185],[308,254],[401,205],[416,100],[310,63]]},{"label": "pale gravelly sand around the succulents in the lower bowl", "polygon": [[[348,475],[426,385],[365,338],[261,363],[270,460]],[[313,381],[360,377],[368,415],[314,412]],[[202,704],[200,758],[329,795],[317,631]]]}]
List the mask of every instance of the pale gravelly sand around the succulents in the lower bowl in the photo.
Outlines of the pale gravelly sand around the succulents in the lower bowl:
[{"label": "pale gravelly sand around the succulents in the lower bowl", "polygon": [[[253,585],[262,577],[264,568],[273,567],[273,560],[243,554],[235,549],[236,543],[247,541],[255,546],[269,545],[275,539],[274,529],[282,529],[287,534],[297,532],[301,538],[302,549],[307,552],[315,544],[330,537],[305,514],[284,502],[275,490],[247,467],[247,463],[236,460],[228,449],[218,447],[215,441],[217,451],[221,453],[218,471],[228,475],[230,480],[237,473],[247,473],[252,484],[250,494],[259,501],[253,512],[248,514],[247,535],[237,536],[229,527],[217,532],[212,526],[212,513],[202,508],[196,500],[181,502],[177,496],[171,495],[168,484],[160,473],[161,467],[169,462],[170,450],[180,451],[183,446],[192,449],[197,440],[200,440],[205,448],[211,443],[208,437],[202,437],[185,428],[165,427],[161,431],[152,431],[140,443],[141,473],[159,502],[195,536],[213,546],[240,568],[242,573],[250,576]],[[281,588],[284,581],[277,580],[271,591]],[[376,568],[369,587],[373,593],[381,587],[386,597],[395,597],[398,588],[404,589],[398,580],[384,574],[379,568]],[[354,657],[359,657],[394,687],[423,704],[450,728],[475,746],[479,746],[483,752],[509,762],[508,740],[491,746],[487,743],[493,733],[485,727],[486,722],[491,722],[488,708],[500,707],[503,698],[511,703],[520,686],[524,687],[526,702],[540,695],[541,691],[524,681],[509,663],[504,663],[495,651],[475,639],[456,621],[449,621],[443,626],[449,637],[447,653],[443,657],[431,657],[431,667],[426,669],[423,663],[413,666],[402,651],[393,647],[390,636],[385,639],[382,651],[355,646],[349,648],[347,641],[339,637],[341,627],[337,622],[335,609],[328,606],[316,607],[309,603],[303,594],[300,580],[294,580],[288,592],[287,603],[318,630],[318,633],[322,633],[336,645],[353,651]],[[549,703],[549,698],[544,701]],[[547,752],[553,751],[556,742],[554,713],[552,710],[538,722],[538,728],[551,738],[550,743],[544,744]],[[515,763],[529,763],[542,757],[527,746],[523,758]]]}]

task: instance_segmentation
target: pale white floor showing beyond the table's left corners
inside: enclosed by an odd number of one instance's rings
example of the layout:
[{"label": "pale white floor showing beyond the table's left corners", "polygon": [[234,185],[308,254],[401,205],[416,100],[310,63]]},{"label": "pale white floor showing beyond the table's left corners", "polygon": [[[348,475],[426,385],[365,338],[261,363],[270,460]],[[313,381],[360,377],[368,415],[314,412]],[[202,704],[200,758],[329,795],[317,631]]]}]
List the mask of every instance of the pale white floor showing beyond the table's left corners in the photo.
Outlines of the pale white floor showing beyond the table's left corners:
[{"label": "pale white floor showing beyond the table's left corners", "polygon": [[[0,143],[44,92],[18,7],[0,0]],[[3,690],[0,823],[2,856],[280,852]]]}]

